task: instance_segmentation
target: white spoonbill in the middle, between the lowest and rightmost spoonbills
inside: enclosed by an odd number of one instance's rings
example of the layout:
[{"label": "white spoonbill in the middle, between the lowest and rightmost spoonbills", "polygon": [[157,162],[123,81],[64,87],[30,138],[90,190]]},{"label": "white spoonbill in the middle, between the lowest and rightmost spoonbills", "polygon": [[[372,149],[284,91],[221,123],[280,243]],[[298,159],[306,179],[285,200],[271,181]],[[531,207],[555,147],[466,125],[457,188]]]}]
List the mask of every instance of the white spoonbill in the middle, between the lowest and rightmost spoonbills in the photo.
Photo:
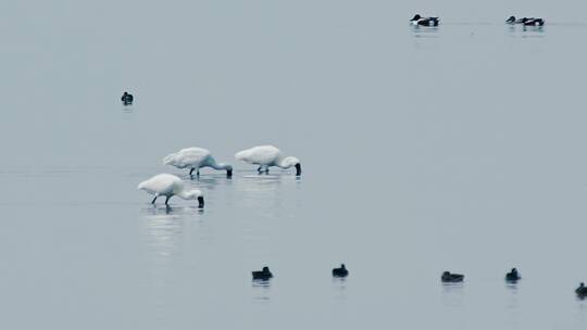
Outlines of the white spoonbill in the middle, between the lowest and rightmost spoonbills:
[{"label": "white spoonbill in the middle, between the lowest and rightmost spoonbills", "polygon": [[212,167],[214,169],[226,169],[226,176],[233,176],[233,166],[224,163],[216,163],[212,153],[202,148],[186,148],[176,153],[167,155],[163,160],[163,165],[172,165],[177,168],[190,168],[189,175],[196,169],[196,175],[200,175],[200,168]]}]

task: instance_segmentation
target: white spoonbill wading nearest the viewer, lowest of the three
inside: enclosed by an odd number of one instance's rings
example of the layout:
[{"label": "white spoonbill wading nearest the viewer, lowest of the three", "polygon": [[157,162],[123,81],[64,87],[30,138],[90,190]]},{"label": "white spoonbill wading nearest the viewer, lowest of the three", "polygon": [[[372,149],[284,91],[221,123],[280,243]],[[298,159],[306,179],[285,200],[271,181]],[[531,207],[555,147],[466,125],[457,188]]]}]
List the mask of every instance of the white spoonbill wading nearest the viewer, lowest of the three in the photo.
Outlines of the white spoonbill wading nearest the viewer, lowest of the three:
[{"label": "white spoonbill wading nearest the viewer, lowest of the three", "polygon": [[157,198],[166,196],[165,205],[174,195],[184,200],[198,200],[198,207],[203,208],[203,195],[200,190],[187,190],[184,181],[178,177],[171,174],[159,174],[154,177],[142,181],[138,186],[139,190],[145,190],[150,194],[154,194],[154,199],[151,204],[154,204]]}]

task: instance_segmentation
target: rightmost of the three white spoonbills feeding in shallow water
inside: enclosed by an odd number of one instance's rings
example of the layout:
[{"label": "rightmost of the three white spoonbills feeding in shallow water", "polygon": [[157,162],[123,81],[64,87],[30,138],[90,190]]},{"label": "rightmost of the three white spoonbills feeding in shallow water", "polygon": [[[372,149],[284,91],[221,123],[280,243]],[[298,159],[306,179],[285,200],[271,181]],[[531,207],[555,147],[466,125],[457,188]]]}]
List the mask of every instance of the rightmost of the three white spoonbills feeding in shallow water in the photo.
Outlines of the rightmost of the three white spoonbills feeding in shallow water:
[{"label": "rightmost of the three white spoonbills feeding in shallow water", "polygon": [[278,166],[282,168],[289,168],[296,166],[296,176],[301,175],[300,160],[296,157],[286,157],[282,151],[273,145],[260,145],[251,149],[239,151],[235,154],[235,157],[245,163],[259,165],[257,169],[259,174],[268,174],[271,166]]}]

